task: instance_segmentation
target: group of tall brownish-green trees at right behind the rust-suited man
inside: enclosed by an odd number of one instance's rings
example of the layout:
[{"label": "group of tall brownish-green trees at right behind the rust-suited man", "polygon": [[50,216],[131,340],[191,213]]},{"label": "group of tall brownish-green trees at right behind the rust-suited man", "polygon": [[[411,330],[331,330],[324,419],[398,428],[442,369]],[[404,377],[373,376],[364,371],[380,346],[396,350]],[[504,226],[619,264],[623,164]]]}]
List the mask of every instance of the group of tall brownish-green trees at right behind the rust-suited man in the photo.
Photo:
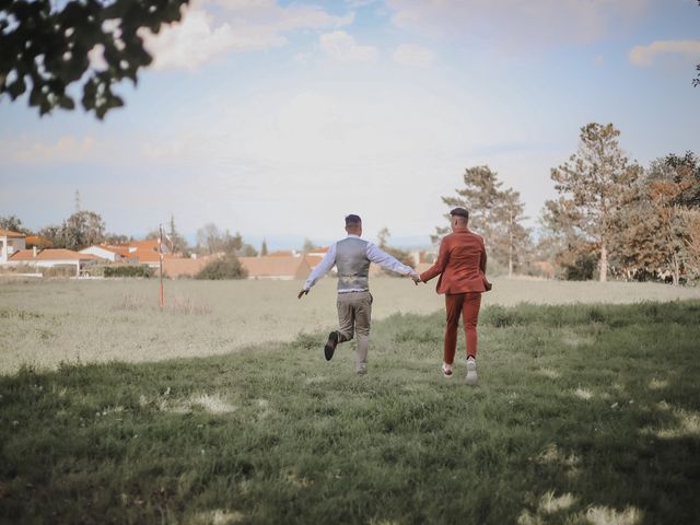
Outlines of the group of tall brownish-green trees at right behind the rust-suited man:
[{"label": "group of tall brownish-green trees at right behind the rust-suited man", "polygon": [[[679,284],[700,278],[700,160],[669,153],[648,167],[620,149],[611,124],[581,128],[578,151],[551,170],[559,197],[539,218],[537,241],[524,205],[489,166],[468,167],[450,207],[470,212],[497,270],[569,280],[608,277]],[[447,229],[438,228],[436,241]]]}]

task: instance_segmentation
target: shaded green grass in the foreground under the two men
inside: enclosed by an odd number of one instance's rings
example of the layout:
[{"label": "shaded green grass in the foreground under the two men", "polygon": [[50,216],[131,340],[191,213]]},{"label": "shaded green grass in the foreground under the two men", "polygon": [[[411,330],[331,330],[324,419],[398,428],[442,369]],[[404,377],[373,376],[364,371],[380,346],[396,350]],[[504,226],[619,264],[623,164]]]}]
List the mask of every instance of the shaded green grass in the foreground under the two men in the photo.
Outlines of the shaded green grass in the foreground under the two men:
[{"label": "shaded green grass in the foreground under the two men", "polygon": [[376,322],[364,377],[352,343],[324,360],[325,326],[23,368],[0,377],[0,521],[697,523],[699,318],[699,301],[491,304],[476,387],[463,361],[440,375],[442,313]]}]

